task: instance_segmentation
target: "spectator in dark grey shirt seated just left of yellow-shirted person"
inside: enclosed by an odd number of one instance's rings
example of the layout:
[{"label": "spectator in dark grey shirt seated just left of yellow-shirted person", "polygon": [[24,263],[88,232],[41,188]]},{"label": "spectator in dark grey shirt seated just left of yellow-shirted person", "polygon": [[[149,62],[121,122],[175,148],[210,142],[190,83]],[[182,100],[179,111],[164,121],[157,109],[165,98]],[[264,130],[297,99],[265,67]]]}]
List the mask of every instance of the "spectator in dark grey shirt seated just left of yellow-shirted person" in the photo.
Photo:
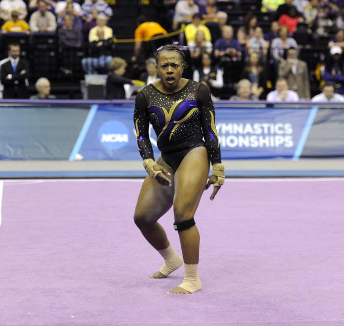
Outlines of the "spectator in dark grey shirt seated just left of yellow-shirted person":
[{"label": "spectator in dark grey shirt seated just left of yellow-shirted person", "polygon": [[73,17],[64,15],[63,26],[59,29],[60,50],[64,47],[81,47],[81,29],[73,26]]}]

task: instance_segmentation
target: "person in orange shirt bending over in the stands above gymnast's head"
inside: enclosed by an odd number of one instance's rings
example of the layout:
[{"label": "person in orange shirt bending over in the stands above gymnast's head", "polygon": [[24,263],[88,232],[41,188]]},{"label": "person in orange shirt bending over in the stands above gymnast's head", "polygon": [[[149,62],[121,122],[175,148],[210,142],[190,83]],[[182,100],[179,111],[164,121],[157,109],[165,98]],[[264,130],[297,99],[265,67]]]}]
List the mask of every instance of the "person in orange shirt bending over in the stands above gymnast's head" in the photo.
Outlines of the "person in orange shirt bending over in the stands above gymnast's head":
[{"label": "person in orange shirt bending over in the stands above gymnast's head", "polygon": [[[146,49],[143,49],[142,47],[142,39],[145,39],[145,44],[148,44],[148,40],[156,35],[166,35],[167,31],[157,22],[150,22],[149,19],[146,16],[139,16],[137,19],[138,27],[135,30],[135,47],[134,47],[134,55],[132,56],[131,60],[132,62],[138,61],[138,56],[140,52],[143,50],[147,50],[149,52],[150,49],[148,47],[145,47]],[[146,52],[147,52],[146,51]],[[143,61],[148,57],[148,54],[145,53],[143,56]]]}]

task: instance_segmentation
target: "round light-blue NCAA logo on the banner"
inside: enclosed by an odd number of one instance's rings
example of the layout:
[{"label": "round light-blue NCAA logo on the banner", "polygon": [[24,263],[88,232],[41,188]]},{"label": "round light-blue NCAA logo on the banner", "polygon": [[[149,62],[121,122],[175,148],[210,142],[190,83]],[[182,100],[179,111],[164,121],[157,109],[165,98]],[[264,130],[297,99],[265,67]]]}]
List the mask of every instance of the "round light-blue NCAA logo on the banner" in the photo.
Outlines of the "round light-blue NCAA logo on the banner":
[{"label": "round light-blue NCAA logo on the banner", "polygon": [[108,120],[100,126],[98,140],[106,148],[121,149],[129,141],[128,128],[118,120]]}]

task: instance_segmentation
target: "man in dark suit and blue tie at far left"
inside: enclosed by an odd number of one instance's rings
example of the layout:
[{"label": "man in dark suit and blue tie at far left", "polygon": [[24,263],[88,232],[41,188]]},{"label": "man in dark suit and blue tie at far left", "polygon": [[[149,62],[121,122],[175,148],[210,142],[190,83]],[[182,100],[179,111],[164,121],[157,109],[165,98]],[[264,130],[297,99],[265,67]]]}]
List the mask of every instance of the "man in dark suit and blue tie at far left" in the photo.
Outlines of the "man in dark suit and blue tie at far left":
[{"label": "man in dark suit and blue tie at far left", "polygon": [[28,63],[20,58],[19,44],[8,46],[9,60],[1,66],[0,79],[4,85],[3,98],[28,98]]}]

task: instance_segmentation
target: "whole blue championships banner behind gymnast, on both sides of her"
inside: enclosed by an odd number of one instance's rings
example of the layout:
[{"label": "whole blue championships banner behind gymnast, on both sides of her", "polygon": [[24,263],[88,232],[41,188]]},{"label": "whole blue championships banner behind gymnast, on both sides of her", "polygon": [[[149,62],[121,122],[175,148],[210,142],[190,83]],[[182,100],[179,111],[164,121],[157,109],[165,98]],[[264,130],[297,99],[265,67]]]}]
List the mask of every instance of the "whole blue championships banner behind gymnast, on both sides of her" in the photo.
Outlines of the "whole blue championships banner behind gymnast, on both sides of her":
[{"label": "whole blue championships banner behind gymnast, on both sides of her", "polygon": [[[313,108],[216,108],[222,159],[298,159],[317,113]],[[83,159],[140,159],[133,106],[92,106],[70,155]],[[159,156],[156,135],[150,140]]]}]

